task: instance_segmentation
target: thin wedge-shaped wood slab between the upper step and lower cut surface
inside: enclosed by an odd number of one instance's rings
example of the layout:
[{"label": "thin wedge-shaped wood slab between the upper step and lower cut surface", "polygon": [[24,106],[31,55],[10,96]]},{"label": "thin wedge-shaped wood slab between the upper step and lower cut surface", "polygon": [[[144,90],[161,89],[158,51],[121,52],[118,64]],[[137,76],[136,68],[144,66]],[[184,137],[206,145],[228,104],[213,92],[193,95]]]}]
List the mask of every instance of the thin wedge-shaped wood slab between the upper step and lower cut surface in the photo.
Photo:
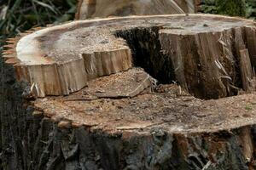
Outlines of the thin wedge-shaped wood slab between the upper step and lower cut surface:
[{"label": "thin wedge-shaped wood slab between the upper step and lower cut surface", "polygon": [[[70,100],[96,98],[125,98],[141,94],[143,90],[151,88],[153,78],[143,69],[133,68],[108,77],[99,77],[88,82],[82,92],[68,97]],[[88,97],[90,96],[90,97]]]}]

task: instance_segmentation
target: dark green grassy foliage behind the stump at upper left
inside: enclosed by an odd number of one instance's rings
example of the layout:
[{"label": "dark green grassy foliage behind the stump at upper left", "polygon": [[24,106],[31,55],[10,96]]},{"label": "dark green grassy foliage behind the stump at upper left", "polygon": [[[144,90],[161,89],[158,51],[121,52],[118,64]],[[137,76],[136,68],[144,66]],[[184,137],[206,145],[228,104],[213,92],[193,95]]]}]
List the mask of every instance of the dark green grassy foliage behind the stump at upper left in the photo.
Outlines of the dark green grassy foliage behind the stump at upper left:
[{"label": "dark green grassy foliage behind the stump at upper left", "polygon": [[32,26],[73,20],[76,0],[0,0],[0,44]]}]

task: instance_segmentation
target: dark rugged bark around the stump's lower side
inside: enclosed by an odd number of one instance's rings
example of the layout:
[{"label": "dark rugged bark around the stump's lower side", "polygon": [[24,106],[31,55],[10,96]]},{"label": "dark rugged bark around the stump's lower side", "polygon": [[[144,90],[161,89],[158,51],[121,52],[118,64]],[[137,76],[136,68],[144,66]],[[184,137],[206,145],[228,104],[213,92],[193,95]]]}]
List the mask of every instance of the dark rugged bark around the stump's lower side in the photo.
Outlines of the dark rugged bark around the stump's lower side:
[{"label": "dark rugged bark around the stump's lower side", "polygon": [[3,169],[241,170],[253,166],[255,126],[190,134],[160,128],[146,134],[60,128],[43,115],[32,116],[32,105],[22,98],[26,83],[16,82],[14,70],[3,61],[0,68]]}]

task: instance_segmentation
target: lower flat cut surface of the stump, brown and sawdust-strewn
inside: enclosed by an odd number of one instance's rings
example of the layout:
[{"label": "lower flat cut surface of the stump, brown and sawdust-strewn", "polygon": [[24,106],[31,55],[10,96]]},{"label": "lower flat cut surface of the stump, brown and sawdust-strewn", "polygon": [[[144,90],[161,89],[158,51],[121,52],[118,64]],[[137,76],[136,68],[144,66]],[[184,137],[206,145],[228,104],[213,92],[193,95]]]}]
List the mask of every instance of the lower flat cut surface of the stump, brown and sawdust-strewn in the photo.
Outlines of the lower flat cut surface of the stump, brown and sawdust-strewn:
[{"label": "lower flat cut surface of the stump, brown and sawdust-strewn", "polygon": [[[134,98],[86,97],[87,88],[64,98],[38,99],[36,106],[56,122],[109,132],[154,127],[170,133],[217,132],[256,123],[256,94],[201,100],[184,93],[177,85],[162,85],[157,91]],[[79,95],[84,94],[83,98]],[[84,99],[84,100],[83,100]]]}]

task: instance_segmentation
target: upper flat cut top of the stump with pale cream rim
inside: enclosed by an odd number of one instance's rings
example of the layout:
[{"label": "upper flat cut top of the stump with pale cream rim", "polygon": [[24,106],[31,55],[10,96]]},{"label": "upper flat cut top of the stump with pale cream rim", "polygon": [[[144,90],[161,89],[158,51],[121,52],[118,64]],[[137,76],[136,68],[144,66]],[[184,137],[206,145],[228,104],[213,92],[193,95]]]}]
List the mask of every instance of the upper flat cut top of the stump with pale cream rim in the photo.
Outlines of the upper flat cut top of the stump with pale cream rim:
[{"label": "upper flat cut top of the stump with pale cream rim", "polygon": [[21,38],[16,47],[16,55],[21,64],[25,65],[61,64],[80,59],[81,54],[128,48],[123,39],[114,37],[113,34],[137,26],[159,26],[160,31],[179,35],[224,31],[236,26],[254,26],[254,23],[209,14],[74,21],[36,31]]}]

